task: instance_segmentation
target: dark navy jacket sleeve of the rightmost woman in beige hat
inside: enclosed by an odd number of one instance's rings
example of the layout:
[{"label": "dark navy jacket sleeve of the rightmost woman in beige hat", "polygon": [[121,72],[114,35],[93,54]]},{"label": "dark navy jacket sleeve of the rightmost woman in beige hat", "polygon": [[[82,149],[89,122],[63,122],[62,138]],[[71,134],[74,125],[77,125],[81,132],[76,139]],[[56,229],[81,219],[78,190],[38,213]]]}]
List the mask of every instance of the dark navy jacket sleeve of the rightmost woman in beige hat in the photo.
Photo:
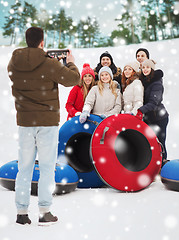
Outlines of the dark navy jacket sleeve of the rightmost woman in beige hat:
[{"label": "dark navy jacket sleeve of the rightmost woman in beige hat", "polygon": [[162,102],[163,99],[163,85],[158,82],[155,83],[150,91],[148,102],[140,107],[142,113],[155,111],[156,107]]}]

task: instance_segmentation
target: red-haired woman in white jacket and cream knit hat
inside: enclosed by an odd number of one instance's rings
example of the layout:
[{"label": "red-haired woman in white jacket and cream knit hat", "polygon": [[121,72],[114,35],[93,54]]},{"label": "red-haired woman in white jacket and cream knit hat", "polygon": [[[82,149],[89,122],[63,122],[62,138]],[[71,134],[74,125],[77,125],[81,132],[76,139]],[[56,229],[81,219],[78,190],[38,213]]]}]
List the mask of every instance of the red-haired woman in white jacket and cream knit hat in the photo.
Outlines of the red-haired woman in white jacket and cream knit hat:
[{"label": "red-haired woman in white jacket and cream knit hat", "polygon": [[144,87],[138,77],[139,67],[138,62],[128,63],[122,73],[124,113],[136,115],[143,105]]}]

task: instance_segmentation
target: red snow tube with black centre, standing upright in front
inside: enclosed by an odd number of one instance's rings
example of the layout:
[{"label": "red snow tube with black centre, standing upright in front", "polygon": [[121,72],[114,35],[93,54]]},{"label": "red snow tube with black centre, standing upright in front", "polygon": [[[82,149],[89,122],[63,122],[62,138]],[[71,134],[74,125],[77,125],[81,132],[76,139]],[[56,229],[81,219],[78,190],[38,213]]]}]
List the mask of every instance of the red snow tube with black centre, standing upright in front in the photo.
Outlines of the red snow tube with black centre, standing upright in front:
[{"label": "red snow tube with black centre, standing upright in front", "polygon": [[121,191],[146,188],[161,168],[158,138],[146,123],[129,114],[103,120],[92,135],[90,151],[102,180]]}]

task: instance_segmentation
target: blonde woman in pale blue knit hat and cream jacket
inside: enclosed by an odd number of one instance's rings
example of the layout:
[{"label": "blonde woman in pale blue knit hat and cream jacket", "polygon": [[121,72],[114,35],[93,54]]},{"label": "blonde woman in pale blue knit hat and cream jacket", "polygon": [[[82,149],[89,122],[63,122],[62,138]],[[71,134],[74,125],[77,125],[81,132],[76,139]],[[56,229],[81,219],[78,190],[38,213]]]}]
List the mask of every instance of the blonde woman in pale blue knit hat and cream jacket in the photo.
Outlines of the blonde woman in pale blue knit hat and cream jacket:
[{"label": "blonde woman in pale blue knit hat and cream jacket", "polygon": [[102,118],[121,112],[121,92],[117,89],[117,84],[112,81],[113,73],[107,66],[102,67],[98,73],[98,84],[89,91],[82,113],[80,123],[84,123],[90,113]]}]

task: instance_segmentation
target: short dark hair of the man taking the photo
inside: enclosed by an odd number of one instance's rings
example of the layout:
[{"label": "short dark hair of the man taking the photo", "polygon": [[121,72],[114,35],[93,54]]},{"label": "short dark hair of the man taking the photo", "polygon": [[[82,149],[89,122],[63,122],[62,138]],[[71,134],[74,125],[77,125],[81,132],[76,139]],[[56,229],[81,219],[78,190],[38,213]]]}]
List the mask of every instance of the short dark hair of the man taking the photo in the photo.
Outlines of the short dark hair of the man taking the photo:
[{"label": "short dark hair of the man taking the photo", "polygon": [[44,39],[43,29],[38,27],[30,27],[27,29],[25,37],[28,47],[37,48]]}]

